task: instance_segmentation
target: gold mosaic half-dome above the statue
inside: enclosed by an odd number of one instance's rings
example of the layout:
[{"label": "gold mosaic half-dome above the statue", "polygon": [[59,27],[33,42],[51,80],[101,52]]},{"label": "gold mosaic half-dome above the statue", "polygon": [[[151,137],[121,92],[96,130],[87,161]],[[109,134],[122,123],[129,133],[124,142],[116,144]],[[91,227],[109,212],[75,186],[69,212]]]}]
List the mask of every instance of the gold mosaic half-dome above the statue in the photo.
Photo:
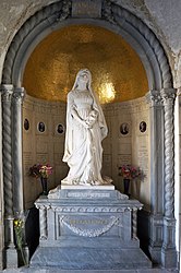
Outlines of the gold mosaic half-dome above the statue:
[{"label": "gold mosaic half-dome above the statue", "polygon": [[100,102],[114,103],[144,96],[146,72],[132,47],[101,27],[74,25],[51,33],[35,48],[24,71],[28,95],[67,100],[80,69],[88,68]]}]

